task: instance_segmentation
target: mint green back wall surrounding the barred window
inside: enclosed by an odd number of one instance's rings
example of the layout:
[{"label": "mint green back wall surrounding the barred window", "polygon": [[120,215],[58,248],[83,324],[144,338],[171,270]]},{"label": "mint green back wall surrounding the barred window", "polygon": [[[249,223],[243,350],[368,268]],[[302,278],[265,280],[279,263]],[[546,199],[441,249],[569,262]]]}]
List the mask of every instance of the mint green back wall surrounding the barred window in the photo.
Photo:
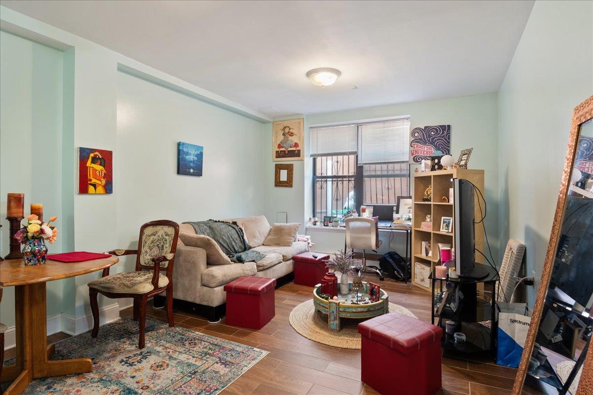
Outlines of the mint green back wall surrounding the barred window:
[{"label": "mint green back wall surrounding the barred window", "polygon": [[[412,127],[450,124],[451,149],[455,159],[457,159],[462,149],[473,147],[470,168],[484,169],[485,171],[486,202],[488,205],[486,232],[494,259],[499,262],[498,101],[496,94],[307,115],[305,116],[305,152],[309,152],[309,126],[311,125],[396,117],[399,115],[410,115]],[[289,118],[296,118],[296,116]],[[266,216],[270,221],[274,221],[277,211],[288,211],[289,221],[305,223],[311,216],[312,160],[305,158],[304,162],[294,162],[294,188],[274,188],[273,163],[275,162],[272,162],[269,147],[272,141],[271,126],[267,129],[267,134],[269,139],[264,143],[266,156],[269,158]],[[315,232],[315,240],[313,241],[317,243],[314,247],[316,251],[330,252],[343,248],[343,237],[336,238],[334,236],[327,234],[327,232]],[[385,251],[381,250],[381,253],[387,251],[387,241],[387,238],[383,240]],[[403,253],[404,241],[404,237],[399,237],[391,243],[391,246]]]}]

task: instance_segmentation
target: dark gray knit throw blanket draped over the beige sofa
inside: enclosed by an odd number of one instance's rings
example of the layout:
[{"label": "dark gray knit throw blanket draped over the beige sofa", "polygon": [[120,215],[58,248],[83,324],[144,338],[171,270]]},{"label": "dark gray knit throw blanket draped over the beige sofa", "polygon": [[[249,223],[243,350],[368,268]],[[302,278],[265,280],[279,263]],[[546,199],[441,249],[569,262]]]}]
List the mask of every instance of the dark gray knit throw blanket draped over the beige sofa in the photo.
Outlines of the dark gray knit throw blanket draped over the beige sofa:
[{"label": "dark gray knit throw blanket draped over the beige sofa", "polygon": [[199,221],[184,222],[193,226],[196,235],[211,237],[233,262],[257,262],[264,258],[263,253],[251,251],[251,246],[245,241],[243,229],[236,222]]}]

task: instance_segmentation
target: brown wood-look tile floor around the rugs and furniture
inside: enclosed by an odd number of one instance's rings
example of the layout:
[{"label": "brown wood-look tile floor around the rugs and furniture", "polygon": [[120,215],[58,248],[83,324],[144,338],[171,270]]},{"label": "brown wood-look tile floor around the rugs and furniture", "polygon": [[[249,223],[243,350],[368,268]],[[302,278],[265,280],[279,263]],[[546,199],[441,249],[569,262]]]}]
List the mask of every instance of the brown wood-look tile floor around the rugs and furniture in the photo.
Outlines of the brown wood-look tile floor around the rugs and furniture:
[{"label": "brown wood-look tile floor around the rugs and furniture", "polygon": [[[391,303],[410,309],[429,322],[431,295],[412,285],[388,279],[377,282],[389,294]],[[310,300],[313,288],[289,283],[276,290],[276,316],[260,330],[228,326],[223,319],[208,323],[188,310],[175,310],[175,323],[197,332],[228,339],[269,351],[269,354],[243,374],[221,395],[371,395],[378,394],[360,381],[360,351],[336,348],[310,341],[292,329],[288,316],[297,304]],[[148,316],[165,320],[164,310],[148,308]],[[132,309],[123,310],[130,317]],[[68,337],[64,333],[49,336],[55,342]],[[7,357],[13,353],[8,352]],[[447,395],[505,395],[511,393],[515,369],[501,367],[484,359],[466,360],[443,357],[442,389]],[[385,380],[389,380],[385,377]],[[396,384],[397,385],[397,384]],[[525,388],[527,394],[537,394]]]}]

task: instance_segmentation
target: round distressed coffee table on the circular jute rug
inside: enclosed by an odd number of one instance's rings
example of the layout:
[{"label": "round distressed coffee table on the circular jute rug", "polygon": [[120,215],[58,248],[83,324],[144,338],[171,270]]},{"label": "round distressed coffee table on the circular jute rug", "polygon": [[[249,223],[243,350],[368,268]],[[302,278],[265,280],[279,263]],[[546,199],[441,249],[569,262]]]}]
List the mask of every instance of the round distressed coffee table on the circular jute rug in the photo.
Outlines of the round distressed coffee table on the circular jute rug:
[{"label": "round distressed coffee table on the circular jute rug", "polygon": [[[363,282],[364,290],[361,290],[359,296],[364,296],[368,301],[369,284]],[[349,282],[352,285],[352,282]],[[327,326],[336,332],[340,330],[340,318],[372,318],[385,313],[389,313],[389,296],[384,290],[380,290],[379,301],[368,303],[355,303],[356,293],[338,294],[338,300],[327,300],[321,297],[321,284],[315,285],[313,290],[313,303],[315,310],[327,314]]]}]

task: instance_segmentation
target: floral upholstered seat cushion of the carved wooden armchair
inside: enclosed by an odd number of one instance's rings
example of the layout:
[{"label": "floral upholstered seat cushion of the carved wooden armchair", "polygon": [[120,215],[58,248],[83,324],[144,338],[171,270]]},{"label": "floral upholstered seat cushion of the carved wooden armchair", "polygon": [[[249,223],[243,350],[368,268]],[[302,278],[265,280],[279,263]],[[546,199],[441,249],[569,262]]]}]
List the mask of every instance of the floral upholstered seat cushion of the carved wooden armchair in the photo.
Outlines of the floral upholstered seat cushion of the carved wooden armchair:
[{"label": "floral upholstered seat cushion of the carved wooden armchair", "polygon": [[[127,272],[97,278],[97,280],[89,282],[88,286],[105,292],[144,294],[154,290],[151,280],[152,272]],[[163,288],[167,284],[169,284],[167,276],[159,274],[158,287]]]}]

